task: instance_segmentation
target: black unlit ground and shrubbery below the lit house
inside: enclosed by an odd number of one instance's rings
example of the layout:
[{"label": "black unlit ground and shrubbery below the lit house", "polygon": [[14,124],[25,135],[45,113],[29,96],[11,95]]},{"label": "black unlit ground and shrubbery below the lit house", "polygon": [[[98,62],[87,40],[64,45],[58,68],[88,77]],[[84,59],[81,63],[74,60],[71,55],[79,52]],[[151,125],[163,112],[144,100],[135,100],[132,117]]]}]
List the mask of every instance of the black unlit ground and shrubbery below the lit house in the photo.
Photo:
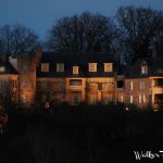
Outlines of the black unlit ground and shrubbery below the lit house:
[{"label": "black unlit ground and shrubbery below the lit house", "polygon": [[[10,113],[0,138],[0,163],[163,162],[160,150],[162,111],[60,105],[52,111]],[[134,151],[155,156],[136,161]]]}]

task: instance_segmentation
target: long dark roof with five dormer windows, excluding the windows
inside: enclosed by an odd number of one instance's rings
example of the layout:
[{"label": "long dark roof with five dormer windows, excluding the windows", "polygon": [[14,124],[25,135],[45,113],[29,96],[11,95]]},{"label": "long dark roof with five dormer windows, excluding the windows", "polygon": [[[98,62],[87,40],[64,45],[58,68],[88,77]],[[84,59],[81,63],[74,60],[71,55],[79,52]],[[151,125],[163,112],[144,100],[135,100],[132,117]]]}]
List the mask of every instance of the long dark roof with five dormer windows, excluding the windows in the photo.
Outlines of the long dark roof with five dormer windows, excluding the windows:
[{"label": "long dark roof with five dormer windows, excluding the windows", "polygon": [[[114,63],[116,60],[114,55],[111,53],[102,53],[102,52],[43,52],[40,63],[49,63],[50,71],[41,72],[40,65],[37,70],[38,77],[105,77],[113,76],[114,73],[104,73],[104,64],[103,63]],[[64,63],[65,72],[58,73],[55,72],[55,64]],[[98,63],[97,72],[90,73],[88,72],[88,63]],[[79,73],[77,75],[73,75],[73,65],[79,66]],[[115,66],[114,66],[115,70]]]}]

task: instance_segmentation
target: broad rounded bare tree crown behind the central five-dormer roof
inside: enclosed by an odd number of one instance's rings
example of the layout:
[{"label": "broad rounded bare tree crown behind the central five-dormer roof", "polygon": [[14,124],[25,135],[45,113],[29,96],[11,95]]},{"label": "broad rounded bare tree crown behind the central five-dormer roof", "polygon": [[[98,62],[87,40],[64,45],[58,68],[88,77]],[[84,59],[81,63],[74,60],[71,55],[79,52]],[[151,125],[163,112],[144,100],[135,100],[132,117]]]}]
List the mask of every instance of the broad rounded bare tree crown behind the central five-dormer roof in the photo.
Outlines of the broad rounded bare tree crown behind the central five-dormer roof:
[{"label": "broad rounded bare tree crown behind the central five-dormer roof", "polygon": [[112,50],[116,27],[110,17],[89,12],[63,17],[52,26],[47,39],[50,51],[93,52]]}]

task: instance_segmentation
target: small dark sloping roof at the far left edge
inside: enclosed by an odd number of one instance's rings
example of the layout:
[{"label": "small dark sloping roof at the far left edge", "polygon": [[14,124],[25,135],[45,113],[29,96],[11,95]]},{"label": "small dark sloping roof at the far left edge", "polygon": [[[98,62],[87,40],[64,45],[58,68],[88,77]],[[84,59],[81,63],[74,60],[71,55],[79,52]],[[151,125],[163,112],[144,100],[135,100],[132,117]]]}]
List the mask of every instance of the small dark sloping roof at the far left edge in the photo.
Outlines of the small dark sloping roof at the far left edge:
[{"label": "small dark sloping roof at the far left edge", "polygon": [[0,67],[4,67],[4,72],[0,72],[0,74],[18,74],[9,61],[1,62]]}]

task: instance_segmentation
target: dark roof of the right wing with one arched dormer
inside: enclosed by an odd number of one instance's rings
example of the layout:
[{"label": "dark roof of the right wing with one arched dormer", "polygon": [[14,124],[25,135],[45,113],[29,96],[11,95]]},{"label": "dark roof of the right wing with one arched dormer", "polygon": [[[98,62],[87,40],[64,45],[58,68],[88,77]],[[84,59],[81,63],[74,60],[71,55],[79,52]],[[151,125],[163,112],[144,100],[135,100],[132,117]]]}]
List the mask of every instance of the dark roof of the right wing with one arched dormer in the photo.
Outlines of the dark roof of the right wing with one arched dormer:
[{"label": "dark roof of the right wing with one arched dormer", "polygon": [[[141,74],[141,64],[147,63],[148,73]],[[145,78],[150,76],[163,76],[163,58],[138,59],[134,65],[128,67],[127,78]]]}]

